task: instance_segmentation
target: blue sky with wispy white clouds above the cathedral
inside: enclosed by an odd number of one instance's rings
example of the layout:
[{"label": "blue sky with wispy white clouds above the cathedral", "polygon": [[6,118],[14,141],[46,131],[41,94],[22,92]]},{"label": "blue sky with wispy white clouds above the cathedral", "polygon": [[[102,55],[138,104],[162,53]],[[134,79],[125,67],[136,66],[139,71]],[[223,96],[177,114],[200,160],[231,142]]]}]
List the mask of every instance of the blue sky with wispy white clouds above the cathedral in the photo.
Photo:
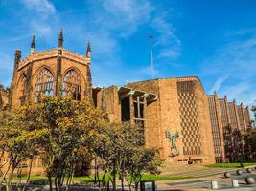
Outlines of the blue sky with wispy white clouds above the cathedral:
[{"label": "blue sky with wispy white clouds above the cathedral", "polygon": [[13,54],[58,45],[85,54],[92,45],[96,86],[198,76],[207,94],[251,105],[256,99],[255,0],[0,0],[0,83],[12,80]]}]

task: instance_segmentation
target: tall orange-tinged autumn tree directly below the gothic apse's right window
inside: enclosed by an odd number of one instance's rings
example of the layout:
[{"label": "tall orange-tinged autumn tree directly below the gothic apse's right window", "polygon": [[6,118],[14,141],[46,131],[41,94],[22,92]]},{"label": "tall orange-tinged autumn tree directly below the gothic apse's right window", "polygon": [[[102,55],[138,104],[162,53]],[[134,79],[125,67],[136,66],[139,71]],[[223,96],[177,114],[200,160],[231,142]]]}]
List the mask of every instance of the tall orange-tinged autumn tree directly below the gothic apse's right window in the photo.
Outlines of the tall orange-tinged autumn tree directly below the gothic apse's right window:
[{"label": "tall orange-tinged autumn tree directly below the gothic apse's right window", "polygon": [[[42,99],[40,120],[47,129],[47,137],[41,144],[43,163],[52,189],[61,190],[64,178],[73,176],[75,163],[80,156],[88,157],[87,138],[94,134],[106,120],[105,113],[93,107],[89,101],[76,101],[71,97],[47,96]],[[81,147],[83,151],[81,152]]]}]

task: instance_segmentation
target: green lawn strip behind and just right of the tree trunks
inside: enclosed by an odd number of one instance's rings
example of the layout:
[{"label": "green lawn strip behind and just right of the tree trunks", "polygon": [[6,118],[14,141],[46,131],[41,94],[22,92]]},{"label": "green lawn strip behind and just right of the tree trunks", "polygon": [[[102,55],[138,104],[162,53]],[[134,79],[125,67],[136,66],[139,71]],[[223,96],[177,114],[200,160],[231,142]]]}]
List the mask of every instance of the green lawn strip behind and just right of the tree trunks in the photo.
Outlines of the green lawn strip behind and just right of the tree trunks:
[{"label": "green lawn strip behind and just right of the tree trunks", "polygon": [[[183,180],[183,179],[192,179],[193,177],[188,176],[168,176],[168,175],[150,175],[146,174],[142,177],[142,180]],[[27,180],[27,177],[22,177],[21,180]],[[47,180],[45,176],[32,176],[30,180]],[[93,181],[94,176],[88,177],[74,177],[73,181]]]}]

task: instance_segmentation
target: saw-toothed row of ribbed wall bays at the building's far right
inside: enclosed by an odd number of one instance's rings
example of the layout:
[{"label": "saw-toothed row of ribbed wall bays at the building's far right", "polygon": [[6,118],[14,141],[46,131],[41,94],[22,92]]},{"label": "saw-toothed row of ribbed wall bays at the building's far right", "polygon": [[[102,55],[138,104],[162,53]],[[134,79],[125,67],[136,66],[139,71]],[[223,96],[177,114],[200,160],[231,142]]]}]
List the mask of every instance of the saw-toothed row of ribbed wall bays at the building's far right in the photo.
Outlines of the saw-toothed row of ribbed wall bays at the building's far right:
[{"label": "saw-toothed row of ribbed wall bays at the building's far right", "polygon": [[243,134],[251,128],[248,107],[217,94],[208,96],[216,162],[248,159]]}]

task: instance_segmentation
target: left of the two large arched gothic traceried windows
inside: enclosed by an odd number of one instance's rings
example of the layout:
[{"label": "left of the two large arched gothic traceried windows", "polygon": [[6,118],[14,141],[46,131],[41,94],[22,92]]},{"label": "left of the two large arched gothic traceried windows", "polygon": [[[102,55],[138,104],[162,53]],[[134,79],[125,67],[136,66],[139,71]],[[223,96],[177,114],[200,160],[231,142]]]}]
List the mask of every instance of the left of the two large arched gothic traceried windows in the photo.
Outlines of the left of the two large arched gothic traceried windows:
[{"label": "left of the two large arched gothic traceried windows", "polygon": [[54,96],[54,75],[46,68],[37,75],[35,101],[38,101],[40,95]]}]

